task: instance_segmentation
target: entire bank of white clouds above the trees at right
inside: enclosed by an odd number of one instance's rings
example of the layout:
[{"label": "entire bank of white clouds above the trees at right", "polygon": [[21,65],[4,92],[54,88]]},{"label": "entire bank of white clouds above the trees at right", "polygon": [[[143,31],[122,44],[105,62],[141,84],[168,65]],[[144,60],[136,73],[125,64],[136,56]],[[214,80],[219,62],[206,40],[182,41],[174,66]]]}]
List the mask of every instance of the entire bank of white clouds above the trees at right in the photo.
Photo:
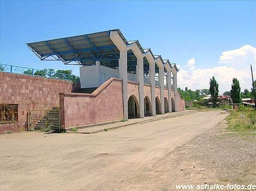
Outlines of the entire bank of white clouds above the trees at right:
[{"label": "entire bank of white clouds above the trees at right", "polygon": [[[239,80],[241,90],[250,89],[252,83],[250,69],[249,67],[245,68],[244,63],[253,64],[254,62],[255,67],[255,57],[253,57],[253,54],[255,56],[255,50],[256,48],[245,45],[236,50],[224,51],[219,62],[227,66],[216,66],[214,68],[195,69],[195,59],[192,58],[186,64],[190,70],[181,67],[177,73],[178,87],[182,89],[188,87],[192,90],[209,89],[209,80],[214,76],[218,81],[220,94],[230,90],[233,77]],[[244,67],[240,67],[240,65]]]}]

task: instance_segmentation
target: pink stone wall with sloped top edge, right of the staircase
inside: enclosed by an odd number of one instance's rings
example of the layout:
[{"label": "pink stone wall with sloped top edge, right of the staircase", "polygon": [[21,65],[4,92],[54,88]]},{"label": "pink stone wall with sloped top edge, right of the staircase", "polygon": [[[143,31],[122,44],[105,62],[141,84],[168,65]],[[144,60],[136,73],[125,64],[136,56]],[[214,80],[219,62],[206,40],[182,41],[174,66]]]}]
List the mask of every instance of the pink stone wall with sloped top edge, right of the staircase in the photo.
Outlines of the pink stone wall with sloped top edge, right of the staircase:
[{"label": "pink stone wall with sloped top edge, right of the staircase", "polygon": [[59,95],[61,129],[123,119],[122,80],[110,78],[92,94]]}]

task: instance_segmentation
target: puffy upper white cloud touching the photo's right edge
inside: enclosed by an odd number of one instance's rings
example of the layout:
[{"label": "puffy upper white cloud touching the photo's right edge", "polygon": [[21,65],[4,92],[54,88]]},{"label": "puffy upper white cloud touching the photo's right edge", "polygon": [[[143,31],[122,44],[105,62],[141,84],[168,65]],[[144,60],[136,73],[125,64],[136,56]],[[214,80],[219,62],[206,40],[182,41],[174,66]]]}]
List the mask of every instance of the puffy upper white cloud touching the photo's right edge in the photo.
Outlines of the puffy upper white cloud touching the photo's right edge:
[{"label": "puffy upper white cloud touching the photo's right edge", "polygon": [[241,48],[222,52],[219,63],[235,69],[250,68],[250,64],[256,65],[256,48],[244,45]]}]

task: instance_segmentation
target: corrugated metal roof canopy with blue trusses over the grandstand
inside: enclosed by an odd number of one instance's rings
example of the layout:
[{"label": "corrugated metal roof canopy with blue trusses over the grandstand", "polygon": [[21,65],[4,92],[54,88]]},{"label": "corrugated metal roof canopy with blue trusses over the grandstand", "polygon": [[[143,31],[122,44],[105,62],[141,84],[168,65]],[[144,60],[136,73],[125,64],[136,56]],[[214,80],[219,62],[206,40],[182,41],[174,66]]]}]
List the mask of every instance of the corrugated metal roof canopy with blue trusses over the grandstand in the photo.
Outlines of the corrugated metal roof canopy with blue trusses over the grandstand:
[{"label": "corrugated metal roof canopy with blue trusses over the grandstand", "polygon": [[[142,53],[148,50],[151,52],[150,48],[144,51],[138,40],[127,41],[119,29],[27,43],[27,46],[40,60],[59,60],[64,64],[81,66],[92,66],[100,61],[102,66],[115,68],[119,66],[119,49],[110,38],[111,31],[117,31],[127,45],[137,43]],[[127,51],[127,58],[128,72],[136,71],[137,58],[131,50]],[[148,75],[149,63],[145,57],[143,61],[144,74]]]}]

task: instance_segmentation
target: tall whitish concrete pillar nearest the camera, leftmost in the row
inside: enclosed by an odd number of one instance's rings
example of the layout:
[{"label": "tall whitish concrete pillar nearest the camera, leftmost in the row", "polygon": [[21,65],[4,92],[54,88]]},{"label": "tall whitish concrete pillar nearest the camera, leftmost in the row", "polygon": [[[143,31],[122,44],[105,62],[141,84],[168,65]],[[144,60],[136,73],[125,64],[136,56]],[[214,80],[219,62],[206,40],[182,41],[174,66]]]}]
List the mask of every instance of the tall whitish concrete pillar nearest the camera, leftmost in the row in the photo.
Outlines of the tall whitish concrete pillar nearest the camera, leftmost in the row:
[{"label": "tall whitish concrete pillar nearest the camera, leftmost in the row", "polygon": [[119,59],[119,78],[123,80],[123,101],[124,118],[128,120],[128,80],[127,80],[127,51],[120,50]]}]

